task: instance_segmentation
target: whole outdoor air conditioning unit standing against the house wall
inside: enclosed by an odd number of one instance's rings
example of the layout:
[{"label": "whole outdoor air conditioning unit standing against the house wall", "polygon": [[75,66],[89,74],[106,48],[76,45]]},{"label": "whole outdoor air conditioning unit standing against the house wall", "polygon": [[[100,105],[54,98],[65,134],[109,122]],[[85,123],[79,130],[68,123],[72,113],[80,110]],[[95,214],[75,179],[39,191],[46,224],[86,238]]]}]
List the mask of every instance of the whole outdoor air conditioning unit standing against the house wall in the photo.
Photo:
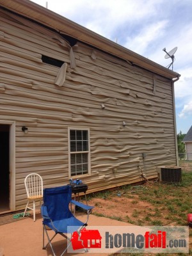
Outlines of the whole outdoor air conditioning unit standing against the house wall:
[{"label": "whole outdoor air conditioning unit standing against the house wall", "polygon": [[157,174],[159,182],[179,183],[182,180],[181,168],[179,166],[158,166]]}]

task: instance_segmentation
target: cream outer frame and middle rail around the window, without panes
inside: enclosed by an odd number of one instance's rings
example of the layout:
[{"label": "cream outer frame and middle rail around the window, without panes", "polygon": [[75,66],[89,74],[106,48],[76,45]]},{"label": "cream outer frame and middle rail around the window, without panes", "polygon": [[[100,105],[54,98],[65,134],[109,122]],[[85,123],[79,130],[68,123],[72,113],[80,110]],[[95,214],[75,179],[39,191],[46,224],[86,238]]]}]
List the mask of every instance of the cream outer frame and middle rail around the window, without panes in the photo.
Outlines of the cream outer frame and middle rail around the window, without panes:
[{"label": "cream outer frame and middle rail around the window, without panes", "polygon": [[[71,130],[81,130],[88,132],[88,150],[86,151],[70,151],[70,131]],[[79,175],[71,175],[71,164],[70,164],[70,156],[71,154],[81,154],[86,152],[88,154],[88,173],[82,173]],[[91,157],[90,157],[90,128],[88,127],[68,127],[68,178],[76,179],[76,177],[83,177],[91,174]]]}]

